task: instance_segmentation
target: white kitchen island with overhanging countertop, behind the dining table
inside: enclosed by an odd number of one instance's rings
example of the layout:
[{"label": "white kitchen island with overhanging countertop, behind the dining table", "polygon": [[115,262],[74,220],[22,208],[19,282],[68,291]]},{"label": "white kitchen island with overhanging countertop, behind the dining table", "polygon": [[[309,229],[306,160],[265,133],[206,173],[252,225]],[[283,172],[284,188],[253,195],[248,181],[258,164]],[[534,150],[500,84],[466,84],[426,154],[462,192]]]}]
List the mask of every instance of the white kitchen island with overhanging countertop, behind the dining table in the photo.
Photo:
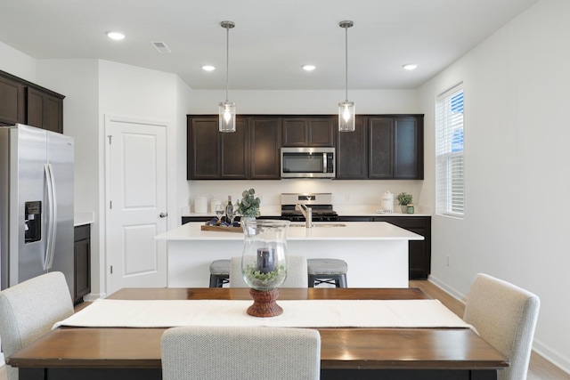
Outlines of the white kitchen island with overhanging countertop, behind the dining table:
[{"label": "white kitchen island with overhanging countertop, behind the dining table", "polygon": [[[167,240],[167,287],[208,287],[214,260],[240,256],[241,232],[201,230],[189,222],[155,237]],[[289,255],[337,258],[348,264],[348,287],[408,287],[408,242],[424,238],[388,222],[291,223]]]}]

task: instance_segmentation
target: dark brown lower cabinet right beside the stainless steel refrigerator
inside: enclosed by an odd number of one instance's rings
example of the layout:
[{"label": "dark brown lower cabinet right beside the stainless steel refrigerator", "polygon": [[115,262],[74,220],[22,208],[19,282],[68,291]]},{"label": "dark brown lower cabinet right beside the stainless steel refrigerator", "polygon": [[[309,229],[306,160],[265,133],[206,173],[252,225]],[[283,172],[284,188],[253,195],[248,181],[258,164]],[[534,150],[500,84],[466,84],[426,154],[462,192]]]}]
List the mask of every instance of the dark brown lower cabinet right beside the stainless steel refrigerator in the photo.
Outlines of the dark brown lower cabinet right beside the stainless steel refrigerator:
[{"label": "dark brown lower cabinet right beside the stainless steel refrigerator", "polygon": [[83,296],[91,292],[91,226],[77,226],[74,229],[75,294],[73,303],[83,302]]}]

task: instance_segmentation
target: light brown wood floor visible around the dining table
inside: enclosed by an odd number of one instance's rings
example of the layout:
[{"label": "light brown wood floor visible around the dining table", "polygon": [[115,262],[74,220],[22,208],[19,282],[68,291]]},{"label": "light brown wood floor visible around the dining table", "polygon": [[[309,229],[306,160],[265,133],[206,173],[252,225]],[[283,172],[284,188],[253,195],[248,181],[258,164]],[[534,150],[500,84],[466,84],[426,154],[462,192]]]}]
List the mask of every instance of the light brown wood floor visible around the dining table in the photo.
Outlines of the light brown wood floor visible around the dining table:
[{"label": "light brown wood floor visible around the dining table", "polygon": [[[463,317],[465,304],[456,300],[451,295],[448,295],[431,282],[413,280],[410,281],[410,287],[419,287],[432,298],[440,300],[455,314]],[[85,304],[79,305],[76,310],[84,306]],[[0,367],[0,380],[7,380],[6,369],[4,366]],[[562,371],[560,368],[553,366],[550,361],[545,360],[542,356],[533,352],[533,355],[531,356],[531,364],[528,368],[527,380],[570,380],[570,374],[566,374],[566,372]]]}]

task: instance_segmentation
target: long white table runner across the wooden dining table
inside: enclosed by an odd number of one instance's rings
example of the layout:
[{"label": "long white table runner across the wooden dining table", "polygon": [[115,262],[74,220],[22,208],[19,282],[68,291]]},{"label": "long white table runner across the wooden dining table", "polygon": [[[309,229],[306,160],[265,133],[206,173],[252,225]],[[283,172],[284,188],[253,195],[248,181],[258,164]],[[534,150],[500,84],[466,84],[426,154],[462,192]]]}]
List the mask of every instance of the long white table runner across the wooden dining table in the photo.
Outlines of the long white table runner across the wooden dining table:
[{"label": "long white table runner across the wooden dining table", "polygon": [[471,327],[438,300],[283,300],[277,317],[246,313],[253,301],[99,299],[53,326]]}]

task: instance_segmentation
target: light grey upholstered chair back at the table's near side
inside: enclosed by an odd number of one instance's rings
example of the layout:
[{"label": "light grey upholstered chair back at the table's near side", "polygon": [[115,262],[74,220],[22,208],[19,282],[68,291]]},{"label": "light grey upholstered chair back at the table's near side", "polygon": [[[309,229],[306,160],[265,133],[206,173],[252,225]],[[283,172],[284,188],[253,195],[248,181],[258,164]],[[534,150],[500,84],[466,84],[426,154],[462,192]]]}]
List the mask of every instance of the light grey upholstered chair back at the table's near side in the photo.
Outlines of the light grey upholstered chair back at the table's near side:
[{"label": "light grey upholstered chair back at the table's near side", "polygon": [[316,380],[320,372],[314,329],[191,326],[162,336],[163,380]]}]

